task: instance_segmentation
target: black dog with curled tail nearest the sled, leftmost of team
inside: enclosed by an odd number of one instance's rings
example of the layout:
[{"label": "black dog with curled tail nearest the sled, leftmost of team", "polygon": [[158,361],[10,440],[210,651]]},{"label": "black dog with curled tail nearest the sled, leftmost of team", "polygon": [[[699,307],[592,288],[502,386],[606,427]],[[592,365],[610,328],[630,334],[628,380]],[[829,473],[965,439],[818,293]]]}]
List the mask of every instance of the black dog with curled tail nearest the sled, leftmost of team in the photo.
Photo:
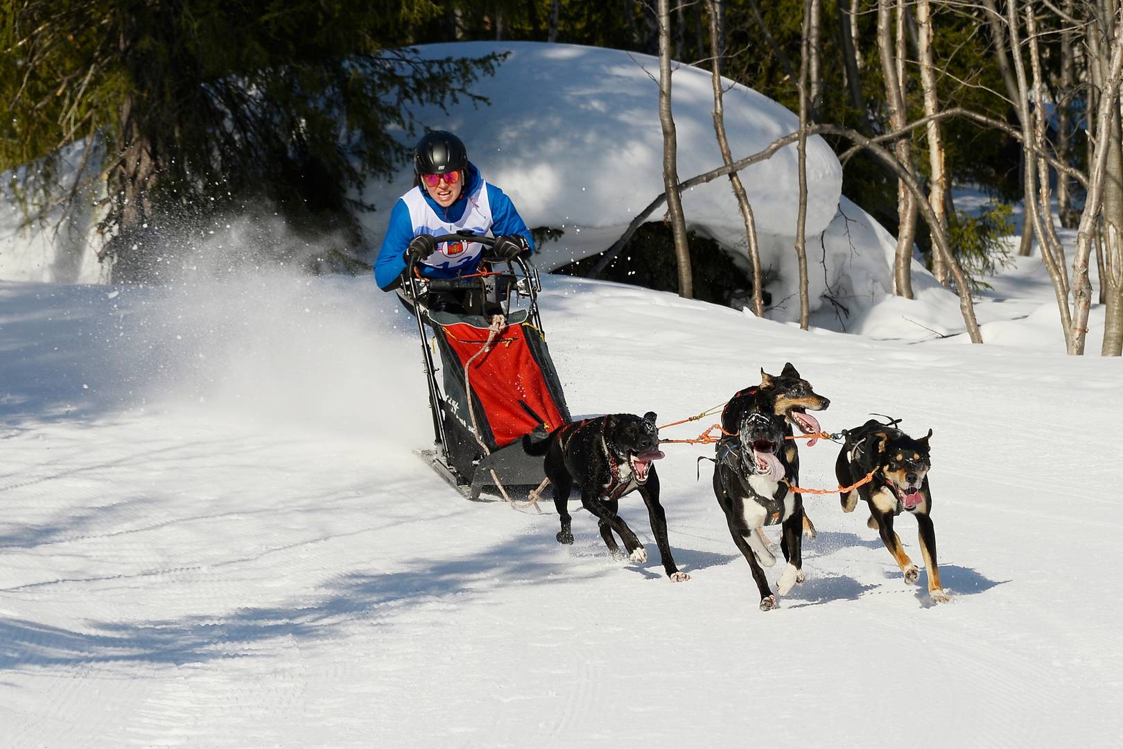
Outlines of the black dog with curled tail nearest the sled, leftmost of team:
[{"label": "black dog with curled tail nearest the sled, leftmost of team", "polygon": [[638,490],[647,504],[663,567],[667,576],[678,583],[690,579],[690,575],[678,572],[670,556],[667,515],[659,504],[659,476],[652,465],[652,460],[663,457],[655,418],[655,413],[648,411],[642,418],[612,413],[586,419],[559,427],[538,442],[527,435],[522,438],[522,447],[529,455],[546,456],[546,477],[554,485],[554,503],[562,521],[557,535],[560,544],[573,544],[567,504],[576,484],[581,488],[582,505],[599,520],[601,538],[609,551],[623,557],[612,537],[615,531],[633,561],[647,561],[647,550],[617,512],[620,497]]}]

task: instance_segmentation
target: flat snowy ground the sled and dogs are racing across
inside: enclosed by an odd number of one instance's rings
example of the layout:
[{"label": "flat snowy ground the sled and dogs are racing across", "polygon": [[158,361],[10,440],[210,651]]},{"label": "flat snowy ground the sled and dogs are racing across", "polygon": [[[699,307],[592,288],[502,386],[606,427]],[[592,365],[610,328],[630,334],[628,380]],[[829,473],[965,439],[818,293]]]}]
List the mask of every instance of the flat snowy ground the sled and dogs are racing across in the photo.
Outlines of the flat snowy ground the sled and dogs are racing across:
[{"label": "flat snowy ground the sled and dogs are racing across", "polygon": [[[830,431],[931,427],[953,601],[825,495],[806,583],[759,612],[702,448],[658,464],[683,584],[637,496],[645,565],[584,511],[566,547],[551,502],[459,500],[410,453],[431,439],[416,334],[366,278],[0,284],[0,747],[1117,741],[1117,360],[547,284],[575,414],[672,421],[791,360]],[[801,448],[802,483],[833,485],[836,450]]]}]

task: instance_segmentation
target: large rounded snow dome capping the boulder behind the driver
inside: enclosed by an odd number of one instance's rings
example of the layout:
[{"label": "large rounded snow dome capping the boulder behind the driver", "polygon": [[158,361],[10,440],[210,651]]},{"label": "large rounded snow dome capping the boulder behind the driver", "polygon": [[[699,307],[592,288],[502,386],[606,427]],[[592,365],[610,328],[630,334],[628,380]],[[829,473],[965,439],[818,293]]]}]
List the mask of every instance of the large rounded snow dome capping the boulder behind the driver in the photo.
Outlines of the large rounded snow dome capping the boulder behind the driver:
[{"label": "large rounded snow dome capping the boulder behind the driver", "polygon": [[[413,110],[418,121],[457,133],[484,177],[511,195],[531,227],[627,226],[663,192],[658,58],[649,55],[536,42],[465,42],[417,47],[424,58],[508,53],[495,75],[473,91],[491,106],[458,104]],[[673,76],[678,138],[678,177],[721,166],[713,130],[713,91],[707,71],[679,65]],[[734,158],[754,154],[798,128],[798,118],[775,101],[725,81],[725,128]],[[404,136],[403,136],[404,137]],[[408,138],[405,138],[409,141]],[[412,144],[410,144],[412,145]],[[409,170],[389,184],[374,183],[373,198],[389,207],[409,189]],[[798,203],[795,146],[742,173],[760,231],[794,234]],[[807,231],[834,217],[842,170],[821,138],[807,144]],[[683,197],[692,223],[741,227],[728,180]],[[385,220],[386,213],[376,214]],[[657,214],[661,216],[661,212]],[[377,221],[372,228],[378,229]]]}]

